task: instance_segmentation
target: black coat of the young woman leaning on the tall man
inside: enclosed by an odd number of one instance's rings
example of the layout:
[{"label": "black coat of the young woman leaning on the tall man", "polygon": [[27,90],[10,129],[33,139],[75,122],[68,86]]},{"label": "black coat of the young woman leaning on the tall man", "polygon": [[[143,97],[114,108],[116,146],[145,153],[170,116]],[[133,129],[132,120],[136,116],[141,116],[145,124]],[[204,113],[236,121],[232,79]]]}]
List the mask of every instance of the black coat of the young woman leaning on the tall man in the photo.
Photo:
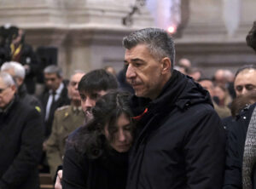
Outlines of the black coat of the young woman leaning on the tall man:
[{"label": "black coat of the young woman leaning on the tall man", "polygon": [[[76,129],[69,139],[74,137]],[[128,153],[114,150],[100,158],[81,155],[71,145],[63,160],[62,189],[125,189],[128,171]]]}]

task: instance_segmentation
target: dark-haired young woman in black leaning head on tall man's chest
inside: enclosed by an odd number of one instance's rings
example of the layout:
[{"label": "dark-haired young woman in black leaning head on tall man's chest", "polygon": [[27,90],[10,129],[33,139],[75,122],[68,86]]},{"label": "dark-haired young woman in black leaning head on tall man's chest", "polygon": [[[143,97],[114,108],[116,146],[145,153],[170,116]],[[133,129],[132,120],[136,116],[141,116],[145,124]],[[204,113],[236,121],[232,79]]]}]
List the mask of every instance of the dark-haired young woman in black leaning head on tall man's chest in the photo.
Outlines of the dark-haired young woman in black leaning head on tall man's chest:
[{"label": "dark-haired young woman in black leaning head on tall man's chest", "polygon": [[124,92],[110,92],[96,102],[94,118],[69,141],[63,163],[63,189],[125,189],[135,127],[130,97]]}]

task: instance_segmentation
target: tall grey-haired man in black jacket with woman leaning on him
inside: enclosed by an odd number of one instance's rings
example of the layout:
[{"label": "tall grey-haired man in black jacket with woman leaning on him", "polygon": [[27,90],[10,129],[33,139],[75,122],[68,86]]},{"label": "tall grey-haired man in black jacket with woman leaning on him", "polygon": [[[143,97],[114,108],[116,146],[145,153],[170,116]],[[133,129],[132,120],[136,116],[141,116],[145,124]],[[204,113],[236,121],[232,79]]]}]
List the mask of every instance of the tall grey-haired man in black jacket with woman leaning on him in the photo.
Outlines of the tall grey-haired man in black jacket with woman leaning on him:
[{"label": "tall grey-haired man in black jacket with woman leaning on him", "polygon": [[126,189],[221,188],[224,128],[208,92],[173,70],[172,37],[146,28],[124,37],[123,45],[139,127]]}]

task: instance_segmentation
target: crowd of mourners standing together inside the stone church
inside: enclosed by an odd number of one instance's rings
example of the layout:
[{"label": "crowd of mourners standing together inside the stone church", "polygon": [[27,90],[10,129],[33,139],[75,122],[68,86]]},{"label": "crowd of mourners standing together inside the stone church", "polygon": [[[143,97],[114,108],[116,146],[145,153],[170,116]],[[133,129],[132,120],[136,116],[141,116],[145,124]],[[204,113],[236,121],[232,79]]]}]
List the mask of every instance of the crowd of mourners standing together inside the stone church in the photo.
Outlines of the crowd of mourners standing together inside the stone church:
[{"label": "crowd of mourners standing together inside the stone church", "polygon": [[[175,64],[168,32],[145,28],[123,38],[117,74],[65,80],[49,65],[36,96],[26,86],[37,59],[24,63],[13,30],[0,72],[0,189],[39,188],[39,172],[56,189],[256,188],[256,64],[204,77],[188,59]],[[256,22],[253,49],[255,38]]]}]

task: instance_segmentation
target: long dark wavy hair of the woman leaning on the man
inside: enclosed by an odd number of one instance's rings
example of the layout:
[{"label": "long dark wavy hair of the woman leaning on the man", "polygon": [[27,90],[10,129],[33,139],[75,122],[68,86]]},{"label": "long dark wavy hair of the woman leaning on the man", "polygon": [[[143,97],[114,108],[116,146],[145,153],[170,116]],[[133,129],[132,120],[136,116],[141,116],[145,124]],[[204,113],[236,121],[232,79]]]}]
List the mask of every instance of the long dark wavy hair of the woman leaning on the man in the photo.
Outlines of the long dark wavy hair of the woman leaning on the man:
[{"label": "long dark wavy hair of the woman leaning on the man", "polygon": [[110,91],[97,100],[92,108],[93,119],[79,129],[73,137],[72,143],[81,156],[90,159],[100,158],[105,152],[110,152],[109,141],[104,135],[104,128],[108,125],[110,140],[113,140],[114,127],[122,113],[129,117],[131,122],[131,135],[134,135],[135,123],[130,108],[131,94],[120,91]]}]

